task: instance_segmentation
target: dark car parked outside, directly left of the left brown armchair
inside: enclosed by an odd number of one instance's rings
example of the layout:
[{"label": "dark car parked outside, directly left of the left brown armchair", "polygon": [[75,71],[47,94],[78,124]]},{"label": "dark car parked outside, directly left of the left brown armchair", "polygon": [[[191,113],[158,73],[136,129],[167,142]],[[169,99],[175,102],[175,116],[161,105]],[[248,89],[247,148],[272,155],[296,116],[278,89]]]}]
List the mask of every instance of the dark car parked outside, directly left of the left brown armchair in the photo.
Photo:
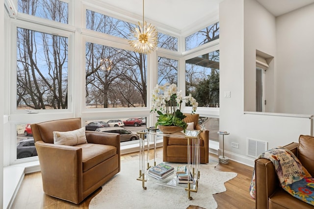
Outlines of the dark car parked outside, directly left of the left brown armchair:
[{"label": "dark car parked outside, directly left of the left brown armchair", "polygon": [[16,145],[16,158],[21,159],[33,156],[37,156],[34,139],[21,139]]}]

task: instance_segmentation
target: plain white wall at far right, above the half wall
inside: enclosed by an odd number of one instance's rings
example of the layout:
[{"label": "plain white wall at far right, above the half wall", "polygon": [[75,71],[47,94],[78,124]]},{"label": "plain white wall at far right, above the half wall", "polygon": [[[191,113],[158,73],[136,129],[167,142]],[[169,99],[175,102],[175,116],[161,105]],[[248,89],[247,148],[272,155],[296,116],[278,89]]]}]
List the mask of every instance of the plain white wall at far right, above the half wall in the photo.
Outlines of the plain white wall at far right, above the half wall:
[{"label": "plain white wall at far right, above the half wall", "polygon": [[277,112],[314,114],[314,4],[279,16]]}]

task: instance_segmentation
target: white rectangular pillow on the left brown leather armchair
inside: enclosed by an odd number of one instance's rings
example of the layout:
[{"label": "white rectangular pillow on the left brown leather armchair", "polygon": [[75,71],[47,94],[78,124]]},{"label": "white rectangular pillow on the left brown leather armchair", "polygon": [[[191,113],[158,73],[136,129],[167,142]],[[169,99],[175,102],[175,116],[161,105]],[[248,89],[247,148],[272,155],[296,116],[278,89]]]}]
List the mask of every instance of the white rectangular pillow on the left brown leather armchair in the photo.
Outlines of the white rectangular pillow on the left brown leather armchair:
[{"label": "white rectangular pillow on the left brown leather armchair", "polygon": [[86,135],[85,135],[85,127],[67,132],[53,132],[53,143],[54,144],[62,144],[62,145],[78,145],[87,143]]}]

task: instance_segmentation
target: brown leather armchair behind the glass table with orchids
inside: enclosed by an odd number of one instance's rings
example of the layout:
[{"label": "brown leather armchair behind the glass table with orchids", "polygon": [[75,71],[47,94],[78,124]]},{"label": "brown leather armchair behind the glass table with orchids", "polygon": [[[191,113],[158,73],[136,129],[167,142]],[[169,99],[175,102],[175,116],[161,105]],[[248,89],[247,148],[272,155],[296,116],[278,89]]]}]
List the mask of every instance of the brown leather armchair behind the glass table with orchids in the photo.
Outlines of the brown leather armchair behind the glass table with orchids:
[{"label": "brown leather armchair behind the glass table with orchids", "polygon": [[[184,114],[183,119],[186,123],[194,122],[194,129],[201,130],[202,126],[198,124],[199,114]],[[201,163],[209,163],[209,130],[200,133],[200,157]],[[187,140],[178,137],[163,137],[163,161],[187,163]]]}]

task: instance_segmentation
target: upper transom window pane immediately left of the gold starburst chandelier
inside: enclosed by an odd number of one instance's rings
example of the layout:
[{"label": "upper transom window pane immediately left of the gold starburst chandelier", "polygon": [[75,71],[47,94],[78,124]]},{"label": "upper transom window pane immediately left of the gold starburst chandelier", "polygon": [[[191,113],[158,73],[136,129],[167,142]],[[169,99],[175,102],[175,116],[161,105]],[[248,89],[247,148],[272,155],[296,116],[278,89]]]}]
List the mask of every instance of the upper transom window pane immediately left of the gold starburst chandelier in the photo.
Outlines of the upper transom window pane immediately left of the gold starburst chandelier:
[{"label": "upper transom window pane immediately left of the gold starburst chandelier", "polygon": [[128,39],[130,29],[136,25],[91,10],[86,10],[86,29]]}]

